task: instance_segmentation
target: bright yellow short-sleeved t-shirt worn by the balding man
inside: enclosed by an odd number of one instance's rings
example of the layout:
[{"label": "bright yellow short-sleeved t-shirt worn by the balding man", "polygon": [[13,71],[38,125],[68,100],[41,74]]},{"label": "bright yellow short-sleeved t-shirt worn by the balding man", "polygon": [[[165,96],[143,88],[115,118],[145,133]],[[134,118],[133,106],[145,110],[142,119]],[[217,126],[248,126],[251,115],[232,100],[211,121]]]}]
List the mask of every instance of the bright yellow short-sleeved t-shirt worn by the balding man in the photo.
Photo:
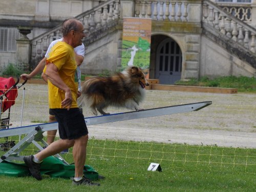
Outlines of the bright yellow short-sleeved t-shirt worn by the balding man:
[{"label": "bright yellow short-sleeved t-shirt worn by the balding man", "polygon": [[[59,41],[51,49],[47,63],[53,63],[58,68],[60,78],[67,84],[72,92],[71,108],[78,108],[76,99],[78,86],[75,82],[76,60],[74,48],[66,42]],[[44,69],[46,71],[47,65]],[[61,109],[61,101],[65,99],[65,92],[54,86],[48,80],[49,108]]]}]

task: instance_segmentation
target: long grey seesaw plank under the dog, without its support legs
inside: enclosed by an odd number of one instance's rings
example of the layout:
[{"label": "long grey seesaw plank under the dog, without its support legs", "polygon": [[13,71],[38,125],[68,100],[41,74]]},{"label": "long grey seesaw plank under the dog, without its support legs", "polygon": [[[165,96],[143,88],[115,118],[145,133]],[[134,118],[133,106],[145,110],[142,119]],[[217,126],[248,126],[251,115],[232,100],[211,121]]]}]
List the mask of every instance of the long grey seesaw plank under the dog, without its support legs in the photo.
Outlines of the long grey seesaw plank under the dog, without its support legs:
[{"label": "long grey seesaw plank under the dog, without its support legs", "polygon": [[[110,122],[116,122],[116,121],[125,121],[125,120],[132,120],[132,119],[141,119],[141,118],[156,117],[156,116],[162,116],[162,115],[172,115],[176,113],[198,111],[210,104],[211,104],[211,101],[204,101],[204,102],[197,102],[197,103],[164,106],[162,108],[146,109],[142,111],[131,111],[131,112],[125,112],[125,113],[86,117],[84,118],[84,120],[86,121],[87,125],[110,123]],[[42,124],[35,124],[35,125],[29,125],[29,126],[20,126],[12,129],[0,130],[0,138],[29,134],[33,130],[35,130],[35,128],[38,126],[40,127],[42,132],[58,129],[57,122],[42,123]]]}]

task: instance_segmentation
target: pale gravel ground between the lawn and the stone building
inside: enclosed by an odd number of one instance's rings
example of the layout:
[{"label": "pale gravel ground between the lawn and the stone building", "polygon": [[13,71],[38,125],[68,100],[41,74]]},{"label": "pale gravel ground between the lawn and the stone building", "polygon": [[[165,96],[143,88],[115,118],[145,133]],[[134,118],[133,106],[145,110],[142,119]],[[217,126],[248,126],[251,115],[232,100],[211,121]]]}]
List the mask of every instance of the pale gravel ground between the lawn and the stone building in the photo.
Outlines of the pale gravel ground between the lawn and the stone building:
[{"label": "pale gravel ground between the lawn and the stone building", "polygon": [[[48,120],[46,84],[25,84],[19,89],[11,108],[11,127]],[[95,139],[156,141],[256,148],[256,94],[216,94],[177,91],[146,91],[141,104],[144,109],[162,106],[212,101],[200,111],[91,125],[89,136]],[[108,109],[110,113],[125,109]],[[93,116],[83,109],[85,117]],[[4,113],[5,115],[5,113]],[[4,117],[2,116],[2,118]]]}]

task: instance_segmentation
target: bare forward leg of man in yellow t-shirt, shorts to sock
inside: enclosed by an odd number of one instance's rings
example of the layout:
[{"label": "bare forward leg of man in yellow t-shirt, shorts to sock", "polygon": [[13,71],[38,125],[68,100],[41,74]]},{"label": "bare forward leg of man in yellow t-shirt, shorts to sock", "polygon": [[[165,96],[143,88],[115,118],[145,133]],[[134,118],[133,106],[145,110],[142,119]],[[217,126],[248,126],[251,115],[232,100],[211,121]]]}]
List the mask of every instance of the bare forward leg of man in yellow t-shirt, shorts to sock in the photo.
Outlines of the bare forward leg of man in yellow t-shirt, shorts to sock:
[{"label": "bare forward leg of man in yellow t-shirt, shorts to sock", "polygon": [[75,139],[73,147],[73,158],[75,163],[75,177],[83,176],[83,166],[86,162],[86,148],[88,142],[88,135],[83,135]]}]

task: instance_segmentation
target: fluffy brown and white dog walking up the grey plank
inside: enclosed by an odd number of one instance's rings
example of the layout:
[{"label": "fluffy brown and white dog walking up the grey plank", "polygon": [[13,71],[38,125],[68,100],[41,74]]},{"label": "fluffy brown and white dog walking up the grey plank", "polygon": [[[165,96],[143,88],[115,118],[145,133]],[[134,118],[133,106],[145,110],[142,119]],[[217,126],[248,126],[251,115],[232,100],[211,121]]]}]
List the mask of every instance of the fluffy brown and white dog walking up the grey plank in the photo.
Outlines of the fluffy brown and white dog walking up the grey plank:
[{"label": "fluffy brown and white dog walking up the grey plank", "polygon": [[125,71],[110,77],[93,77],[82,85],[81,100],[83,106],[89,106],[94,115],[97,111],[108,115],[103,109],[108,106],[142,110],[139,103],[145,96],[146,81],[142,69],[129,67]]}]

